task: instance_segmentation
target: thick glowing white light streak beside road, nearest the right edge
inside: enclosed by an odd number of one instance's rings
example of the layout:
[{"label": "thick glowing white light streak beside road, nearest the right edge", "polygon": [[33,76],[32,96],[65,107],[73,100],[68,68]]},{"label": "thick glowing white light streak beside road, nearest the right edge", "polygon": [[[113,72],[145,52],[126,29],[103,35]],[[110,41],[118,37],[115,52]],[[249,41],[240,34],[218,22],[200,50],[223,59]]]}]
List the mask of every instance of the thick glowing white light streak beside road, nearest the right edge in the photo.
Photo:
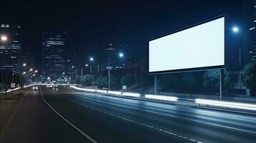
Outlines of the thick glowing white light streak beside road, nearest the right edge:
[{"label": "thick glowing white light streak beside road, nearest the right edge", "polygon": [[214,106],[214,107],[227,107],[232,109],[247,109],[256,111],[256,104],[246,104],[246,103],[238,103],[238,102],[224,102],[213,99],[196,99],[196,104]]}]

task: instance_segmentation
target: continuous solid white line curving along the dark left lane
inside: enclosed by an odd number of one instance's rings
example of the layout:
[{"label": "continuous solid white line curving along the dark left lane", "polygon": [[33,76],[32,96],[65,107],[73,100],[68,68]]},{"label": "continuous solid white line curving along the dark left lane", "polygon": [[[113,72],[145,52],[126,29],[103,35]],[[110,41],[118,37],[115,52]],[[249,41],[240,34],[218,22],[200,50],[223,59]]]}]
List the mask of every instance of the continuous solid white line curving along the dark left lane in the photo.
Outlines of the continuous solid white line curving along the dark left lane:
[{"label": "continuous solid white line curving along the dark left lane", "polygon": [[88,136],[87,134],[85,134],[85,132],[82,132],[82,130],[79,129],[78,127],[76,127],[75,124],[72,124],[72,122],[68,121],[68,120],[67,120],[65,117],[63,117],[59,112],[57,112],[48,102],[46,102],[45,99],[44,99],[44,96],[42,95],[41,88],[40,88],[40,92],[41,92],[41,97],[42,97],[44,103],[47,104],[47,105],[52,109],[52,111],[54,111],[57,115],[59,115],[59,117],[62,118],[65,122],[67,122],[67,124],[70,124],[70,126],[73,127],[75,130],[77,130],[77,132],[79,132],[79,133],[82,134],[84,137],[86,137],[87,139],[89,139],[90,142],[98,143],[98,142],[96,142],[93,138],[91,138],[90,136]]}]

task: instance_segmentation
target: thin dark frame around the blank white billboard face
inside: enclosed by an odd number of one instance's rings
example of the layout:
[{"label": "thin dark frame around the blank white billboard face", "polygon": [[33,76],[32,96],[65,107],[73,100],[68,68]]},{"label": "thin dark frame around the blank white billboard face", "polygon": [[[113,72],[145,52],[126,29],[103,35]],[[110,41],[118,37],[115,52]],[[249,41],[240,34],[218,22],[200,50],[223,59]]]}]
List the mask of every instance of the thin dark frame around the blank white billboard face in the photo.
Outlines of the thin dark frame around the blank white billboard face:
[{"label": "thin dark frame around the blank white billboard face", "polygon": [[[203,67],[196,67],[196,68],[173,69],[173,70],[164,70],[164,71],[149,71],[149,59],[150,59],[150,57],[149,57],[149,42],[150,41],[153,41],[153,40],[156,40],[156,39],[160,39],[160,38],[162,38],[164,36],[169,36],[171,34],[178,33],[179,31],[184,31],[184,30],[190,29],[190,28],[192,28],[194,26],[199,26],[201,24],[205,24],[205,23],[207,23],[209,21],[214,21],[214,20],[220,19],[220,18],[224,18],[224,65],[219,65],[219,66],[203,66]],[[148,74],[151,74],[151,75],[153,75],[153,74],[171,74],[171,73],[189,72],[189,71],[206,71],[208,69],[225,69],[225,66],[226,66],[226,56],[225,56],[225,54],[226,54],[226,29],[225,29],[225,27],[226,27],[226,14],[222,14],[222,15],[216,16],[216,17],[214,17],[212,19],[207,19],[205,21],[193,24],[191,26],[186,26],[186,27],[184,27],[182,29],[179,29],[179,30],[176,30],[176,31],[172,31],[172,32],[170,32],[168,34],[164,34],[162,36],[157,36],[157,37],[155,37],[153,39],[150,39],[148,41]]]}]

